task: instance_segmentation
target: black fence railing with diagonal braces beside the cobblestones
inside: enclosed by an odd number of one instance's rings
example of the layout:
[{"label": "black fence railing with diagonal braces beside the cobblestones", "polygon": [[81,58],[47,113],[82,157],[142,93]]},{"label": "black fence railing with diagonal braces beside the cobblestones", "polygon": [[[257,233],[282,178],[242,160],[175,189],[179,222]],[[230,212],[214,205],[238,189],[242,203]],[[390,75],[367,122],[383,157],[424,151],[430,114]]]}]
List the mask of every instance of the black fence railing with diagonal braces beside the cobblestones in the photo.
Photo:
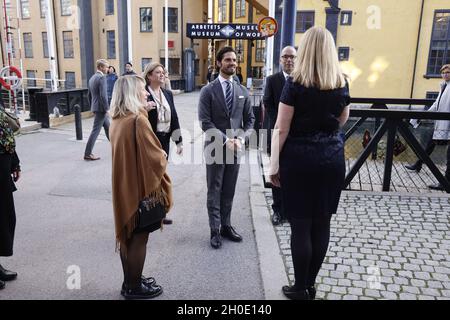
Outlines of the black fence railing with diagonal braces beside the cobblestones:
[{"label": "black fence railing with diagonal braces beside the cobblestones", "polygon": [[[433,134],[432,120],[450,121],[450,113],[417,111],[428,109],[434,102],[427,99],[353,98],[351,102],[351,120],[344,128],[347,189],[419,191],[437,180],[450,193],[449,181],[441,172],[445,170],[445,148],[437,150],[433,157],[424,150]],[[410,119],[422,120],[422,128],[412,129]],[[404,165],[417,159],[427,169],[408,172]]]}]

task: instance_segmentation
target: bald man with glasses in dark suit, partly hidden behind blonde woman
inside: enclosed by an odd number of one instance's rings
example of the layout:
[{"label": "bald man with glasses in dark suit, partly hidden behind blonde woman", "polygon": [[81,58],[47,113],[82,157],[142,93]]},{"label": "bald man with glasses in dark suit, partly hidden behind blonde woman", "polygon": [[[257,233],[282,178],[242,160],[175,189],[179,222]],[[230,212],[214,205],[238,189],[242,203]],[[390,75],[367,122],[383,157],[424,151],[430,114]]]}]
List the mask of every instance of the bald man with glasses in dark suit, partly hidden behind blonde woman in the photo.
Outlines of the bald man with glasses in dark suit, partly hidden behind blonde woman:
[{"label": "bald man with glasses in dark suit, partly hidden behind blonde woman", "polygon": [[[270,130],[273,130],[275,123],[277,122],[278,104],[280,103],[281,93],[283,92],[284,84],[287,77],[294,70],[295,59],[297,58],[297,52],[294,47],[285,47],[281,51],[280,65],[281,71],[271,75],[266,80],[266,88],[264,89],[264,105],[267,110],[269,118]],[[283,201],[281,198],[281,189],[272,187],[273,198],[273,216],[272,224],[274,226],[279,225],[286,219],[286,215],[283,212]]]}]

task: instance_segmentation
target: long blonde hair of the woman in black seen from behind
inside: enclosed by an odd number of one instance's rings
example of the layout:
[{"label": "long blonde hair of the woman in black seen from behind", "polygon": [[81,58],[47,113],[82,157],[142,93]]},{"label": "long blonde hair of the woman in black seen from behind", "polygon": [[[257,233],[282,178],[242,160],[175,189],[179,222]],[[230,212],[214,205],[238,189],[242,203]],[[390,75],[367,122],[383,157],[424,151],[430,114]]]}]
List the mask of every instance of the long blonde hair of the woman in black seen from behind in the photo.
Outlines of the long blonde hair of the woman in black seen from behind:
[{"label": "long blonde hair of the woman in black seen from behind", "polygon": [[330,31],[323,27],[310,28],[304,34],[297,52],[291,76],[307,88],[332,90],[345,86],[336,45]]}]

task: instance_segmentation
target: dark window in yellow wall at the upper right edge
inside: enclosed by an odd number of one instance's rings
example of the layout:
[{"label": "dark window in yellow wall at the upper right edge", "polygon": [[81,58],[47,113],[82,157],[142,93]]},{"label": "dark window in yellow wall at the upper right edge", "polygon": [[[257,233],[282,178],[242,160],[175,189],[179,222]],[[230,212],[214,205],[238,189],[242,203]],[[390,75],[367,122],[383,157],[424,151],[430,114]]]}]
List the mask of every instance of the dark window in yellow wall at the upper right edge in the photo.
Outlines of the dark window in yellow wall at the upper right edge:
[{"label": "dark window in yellow wall at the upper right edge", "polygon": [[450,10],[440,10],[434,14],[427,75],[439,76],[441,67],[447,63],[450,63]]}]

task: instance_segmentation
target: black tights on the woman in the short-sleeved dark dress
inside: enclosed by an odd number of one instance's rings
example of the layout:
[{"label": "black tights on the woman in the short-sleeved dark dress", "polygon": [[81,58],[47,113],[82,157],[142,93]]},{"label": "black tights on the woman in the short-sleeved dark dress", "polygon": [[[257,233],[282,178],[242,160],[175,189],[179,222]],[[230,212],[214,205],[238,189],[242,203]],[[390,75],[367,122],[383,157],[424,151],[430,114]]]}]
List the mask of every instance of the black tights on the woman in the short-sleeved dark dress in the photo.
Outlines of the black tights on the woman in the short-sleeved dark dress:
[{"label": "black tights on the woman in the short-sleeved dark dress", "polygon": [[292,262],[298,290],[312,287],[316,282],[328,250],[330,220],[331,215],[314,220],[290,219]]}]

